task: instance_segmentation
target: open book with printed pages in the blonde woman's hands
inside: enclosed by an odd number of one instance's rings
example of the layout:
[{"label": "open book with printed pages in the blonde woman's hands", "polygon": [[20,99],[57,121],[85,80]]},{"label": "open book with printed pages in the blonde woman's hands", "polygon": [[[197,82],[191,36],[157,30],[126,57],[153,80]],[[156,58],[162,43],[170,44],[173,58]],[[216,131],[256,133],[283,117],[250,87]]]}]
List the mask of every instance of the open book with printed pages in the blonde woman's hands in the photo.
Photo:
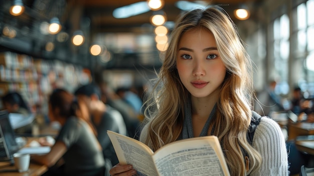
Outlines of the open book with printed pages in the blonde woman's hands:
[{"label": "open book with printed pages in the blonde woman's hands", "polygon": [[136,139],[107,133],[120,164],[132,164],[137,175],[230,175],[216,136],[178,140],[153,152]]}]

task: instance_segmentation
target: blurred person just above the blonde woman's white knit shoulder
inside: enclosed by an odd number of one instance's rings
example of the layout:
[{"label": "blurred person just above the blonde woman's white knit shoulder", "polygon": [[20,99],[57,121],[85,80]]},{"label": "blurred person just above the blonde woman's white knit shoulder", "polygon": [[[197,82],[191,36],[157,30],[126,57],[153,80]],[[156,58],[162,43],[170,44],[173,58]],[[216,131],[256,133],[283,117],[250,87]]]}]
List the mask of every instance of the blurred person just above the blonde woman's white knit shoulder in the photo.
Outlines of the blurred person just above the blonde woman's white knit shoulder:
[{"label": "blurred person just above the blonde woman's white knit shoulder", "polygon": [[254,111],[260,115],[270,116],[270,112],[285,110],[282,104],[282,97],[275,93],[276,84],[275,80],[271,80],[263,91],[257,93]]}]

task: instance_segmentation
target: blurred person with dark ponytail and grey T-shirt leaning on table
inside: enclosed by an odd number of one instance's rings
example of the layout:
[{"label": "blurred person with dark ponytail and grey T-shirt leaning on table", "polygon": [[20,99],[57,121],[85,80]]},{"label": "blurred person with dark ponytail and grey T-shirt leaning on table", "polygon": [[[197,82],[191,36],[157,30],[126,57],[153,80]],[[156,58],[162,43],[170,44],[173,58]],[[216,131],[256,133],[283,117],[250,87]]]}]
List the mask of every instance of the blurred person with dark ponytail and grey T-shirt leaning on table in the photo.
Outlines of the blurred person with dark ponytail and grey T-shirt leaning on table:
[{"label": "blurred person with dark ponytail and grey T-shirt leaning on table", "polygon": [[[51,168],[44,175],[103,176],[102,149],[84,103],[64,89],[55,89],[49,97],[49,117],[62,128],[48,154],[32,156]],[[61,158],[64,164],[53,169]]]}]

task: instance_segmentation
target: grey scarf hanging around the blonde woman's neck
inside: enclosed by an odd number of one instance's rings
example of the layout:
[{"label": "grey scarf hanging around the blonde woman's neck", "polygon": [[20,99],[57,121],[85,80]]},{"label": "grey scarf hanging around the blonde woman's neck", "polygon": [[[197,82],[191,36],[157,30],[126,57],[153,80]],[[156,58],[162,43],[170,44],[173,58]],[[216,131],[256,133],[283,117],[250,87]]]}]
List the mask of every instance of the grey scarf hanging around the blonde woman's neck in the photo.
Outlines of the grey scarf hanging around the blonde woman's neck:
[{"label": "grey scarf hanging around the blonde woman's neck", "polygon": [[[209,124],[210,124],[210,121],[213,118],[213,116],[216,114],[216,109],[217,109],[217,105],[215,104],[212,112],[210,113],[210,115],[209,115],[203,129],[202,129],[200,136],[207,136]],[[184,113],[185,115],[184,115],[184,120],[183,120],[182,133],[178,139],[187,139],[187,138],[194,137],[193,125],[192,125],[192,111],[191,111],[191,102],[190,101],[188,101],[188,103],[186,104],[184,112],[185,112]]]}]

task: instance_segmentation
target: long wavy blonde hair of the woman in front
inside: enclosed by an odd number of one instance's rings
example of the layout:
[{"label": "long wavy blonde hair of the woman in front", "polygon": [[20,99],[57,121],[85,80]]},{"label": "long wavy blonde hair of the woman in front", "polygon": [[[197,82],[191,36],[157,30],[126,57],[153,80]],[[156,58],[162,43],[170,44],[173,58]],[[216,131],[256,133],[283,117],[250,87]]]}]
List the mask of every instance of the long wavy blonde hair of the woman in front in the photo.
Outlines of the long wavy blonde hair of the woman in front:
[{"label": "long wavy blonde hair of the woman in front", "polygon": [[181,134],[184,107],[187,101],[190,101],[190,93],[180,81],[176,68],[177,47],[186,31],[199,27],[213,33],[220,57],[227,69],[217,102],[216,117],[211,121],[208,134],[210,135],[215,126],[214,135],[220,140],[231,175],[246,173],[241,148],[249,156],[250,169],[247,173],[254,172],[261,165],[261,156],[246,138],[252,116],[253,83],[250,58],[236,26],[220,7],[195,9],[178,19],[171,33],[163,66],[145,102],[147,124],[142,131],[145,138],[141,140],[156,150],[177,140]]}]

